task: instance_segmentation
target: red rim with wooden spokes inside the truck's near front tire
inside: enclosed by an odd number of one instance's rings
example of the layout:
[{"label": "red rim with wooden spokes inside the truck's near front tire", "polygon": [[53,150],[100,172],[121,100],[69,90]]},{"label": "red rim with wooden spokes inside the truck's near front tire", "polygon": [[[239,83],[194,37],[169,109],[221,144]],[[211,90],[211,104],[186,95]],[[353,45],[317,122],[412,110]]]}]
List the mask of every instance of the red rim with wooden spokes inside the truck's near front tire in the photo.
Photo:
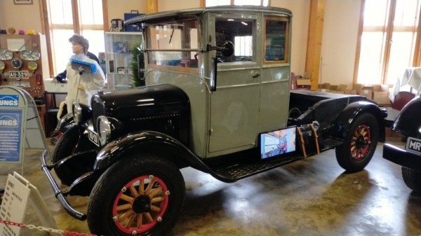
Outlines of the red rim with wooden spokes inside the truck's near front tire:
[{"label": "red rim with wooden spokes inside the truck's near front tire", "polygon": [[162,221],[168,207],[166,184],[156,176],[140,176],[124,186],[114,200],[113,221],[127,234],[145,232]]}]

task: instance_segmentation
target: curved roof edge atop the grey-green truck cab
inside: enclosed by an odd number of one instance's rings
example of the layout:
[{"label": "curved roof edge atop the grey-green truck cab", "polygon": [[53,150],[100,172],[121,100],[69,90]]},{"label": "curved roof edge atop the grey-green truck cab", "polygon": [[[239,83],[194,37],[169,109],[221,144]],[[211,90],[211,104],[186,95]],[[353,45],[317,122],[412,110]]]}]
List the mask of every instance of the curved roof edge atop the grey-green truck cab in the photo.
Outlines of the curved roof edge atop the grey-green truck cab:
[{"label": "curved roof edge atop the grey-green truck cab", "polygon": [[210,6],[206,8],[191,8],[175,11],[163,11],[160,13],[152,13],[147,15],[140,15],[135,18],[124,21],[124,25],[138,25],[142,22],[154,21],[156,19],[171,18],[174,16],[187,16],[187,15],[202,15],[207,12],[223,13],[225,11],[244,13],[267,13],[274,15],[286,15],[292,17],[293,13],[286,8],[278,8],[273,6]]}]

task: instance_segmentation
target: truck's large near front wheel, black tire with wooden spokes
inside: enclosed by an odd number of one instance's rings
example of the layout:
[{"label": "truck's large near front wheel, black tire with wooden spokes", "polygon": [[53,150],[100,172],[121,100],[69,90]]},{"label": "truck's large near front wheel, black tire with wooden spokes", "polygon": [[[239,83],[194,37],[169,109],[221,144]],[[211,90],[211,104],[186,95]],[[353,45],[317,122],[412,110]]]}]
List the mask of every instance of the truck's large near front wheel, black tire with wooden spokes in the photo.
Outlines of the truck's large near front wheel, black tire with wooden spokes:
[{"label": "truck's large near front wheel, black tire with wooden spokes", "polygon": [[[166,235],[182,210],[185,191],[180,169],[168,160],[154,156],[119,160],[93,187],[89,230],[96,235]],[[137,233],[132,234],[134,230]]]}]

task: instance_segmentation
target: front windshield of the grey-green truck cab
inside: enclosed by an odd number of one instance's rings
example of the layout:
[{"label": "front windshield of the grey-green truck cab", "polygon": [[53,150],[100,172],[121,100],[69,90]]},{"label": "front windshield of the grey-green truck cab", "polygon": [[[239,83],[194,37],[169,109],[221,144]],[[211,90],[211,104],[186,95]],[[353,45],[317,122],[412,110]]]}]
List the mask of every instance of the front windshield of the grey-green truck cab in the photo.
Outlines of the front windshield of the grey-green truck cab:
[{"label": "front windshield of the grey-green truck cab", "polygon": [[147,27],[147,57],[149,67],[197,68],[197,20],[149,25]]}]

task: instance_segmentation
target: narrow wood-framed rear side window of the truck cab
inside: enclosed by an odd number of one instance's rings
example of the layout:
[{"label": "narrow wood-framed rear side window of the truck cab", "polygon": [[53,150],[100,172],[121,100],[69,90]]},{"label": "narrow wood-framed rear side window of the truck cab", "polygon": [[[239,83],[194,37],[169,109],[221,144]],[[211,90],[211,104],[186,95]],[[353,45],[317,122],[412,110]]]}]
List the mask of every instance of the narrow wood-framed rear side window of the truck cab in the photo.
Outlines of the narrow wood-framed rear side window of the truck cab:
[{"label": "narrow wood-framed rear side window of the truck cab", "polygon": [[265,20],[265,62],[288,62],[288,19],[267,17]]}]

